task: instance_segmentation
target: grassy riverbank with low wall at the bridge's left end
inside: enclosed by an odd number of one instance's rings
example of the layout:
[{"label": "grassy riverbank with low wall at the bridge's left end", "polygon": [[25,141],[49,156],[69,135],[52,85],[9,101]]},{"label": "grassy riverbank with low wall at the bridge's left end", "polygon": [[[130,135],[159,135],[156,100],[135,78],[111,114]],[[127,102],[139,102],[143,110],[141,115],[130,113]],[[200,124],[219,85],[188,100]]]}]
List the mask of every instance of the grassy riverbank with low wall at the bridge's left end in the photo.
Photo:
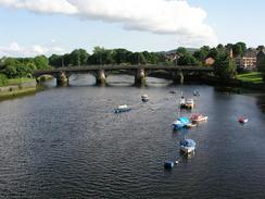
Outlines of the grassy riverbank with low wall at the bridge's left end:
[{"label": "grassy riverbank with low wall at the bridge's left end", "polygon": [[35,94],[37,84],[35,79],[9,79],[9,85],[0,87],[0,100],[18,96]]}]

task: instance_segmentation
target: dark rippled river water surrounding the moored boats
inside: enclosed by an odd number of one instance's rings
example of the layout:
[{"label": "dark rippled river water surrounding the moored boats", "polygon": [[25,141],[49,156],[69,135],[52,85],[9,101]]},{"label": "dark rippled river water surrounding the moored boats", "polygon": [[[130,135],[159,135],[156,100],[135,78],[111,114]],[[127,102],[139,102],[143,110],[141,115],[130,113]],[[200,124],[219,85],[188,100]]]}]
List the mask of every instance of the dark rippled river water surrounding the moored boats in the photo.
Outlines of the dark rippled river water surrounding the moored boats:
[{"label": "dark rippled river water surrounding the moored boats", "polygon": [[[93,82],[76,75],[70,87],[51,82],[0,102],[1,198],[265,198],[264,96],[157,78],[137,88],[131,76],[112,76],[106,87]],[[209,122],[173,132],[181,91],[192,97],[194,89],[194,112]],[[132,110],[114,114],[124,103]],[[184,136],[197,141],[195,154],[165,171]]]}]

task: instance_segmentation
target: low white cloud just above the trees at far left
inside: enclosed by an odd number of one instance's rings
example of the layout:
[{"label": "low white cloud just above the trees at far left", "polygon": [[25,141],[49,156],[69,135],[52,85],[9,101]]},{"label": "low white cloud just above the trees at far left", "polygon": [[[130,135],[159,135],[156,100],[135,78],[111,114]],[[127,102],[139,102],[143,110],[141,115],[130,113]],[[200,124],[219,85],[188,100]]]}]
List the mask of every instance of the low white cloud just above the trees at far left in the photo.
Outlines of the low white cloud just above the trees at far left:
[{"label": "low white cloud just above the trees at far left", "polygon": [[0,57],[35,57],[39,54],[63,53],[65,50],[61,47],[45,47],[34,45],[30,47],[21,47],[16,41],[11,42],[8,47],[0,47]]}]

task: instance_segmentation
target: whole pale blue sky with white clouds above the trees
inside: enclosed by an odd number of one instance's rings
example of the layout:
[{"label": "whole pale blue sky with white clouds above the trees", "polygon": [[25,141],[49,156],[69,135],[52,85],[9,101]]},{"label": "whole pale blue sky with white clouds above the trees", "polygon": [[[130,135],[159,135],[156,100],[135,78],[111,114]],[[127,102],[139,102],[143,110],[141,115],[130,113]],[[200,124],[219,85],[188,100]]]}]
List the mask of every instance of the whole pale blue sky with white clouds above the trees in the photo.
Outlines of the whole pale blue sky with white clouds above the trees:
[{"label": "whole pale blue sky with white clouds above the trees", "polygon": [[0,57],[265,45],[264,0],[0,0]]}]

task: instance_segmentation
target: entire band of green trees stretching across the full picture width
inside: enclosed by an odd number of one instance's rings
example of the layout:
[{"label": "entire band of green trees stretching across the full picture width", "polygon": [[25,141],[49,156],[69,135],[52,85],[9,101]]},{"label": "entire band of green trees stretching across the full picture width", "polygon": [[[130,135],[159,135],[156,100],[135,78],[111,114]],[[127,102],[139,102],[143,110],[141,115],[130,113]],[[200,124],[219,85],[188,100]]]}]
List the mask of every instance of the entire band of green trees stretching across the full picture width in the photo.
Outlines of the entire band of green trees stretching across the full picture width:
[{"label": "entire band of green trees stretching across the full picture width", "polygon": [[[258,47],[261,48],[261,47]],[[222,43],[211,48],[203,46],[200,49],[190,50],[179,47],[171,53],[177,54],[177,60],[168,59],[169,52],[131,52],[129,50],[104,49],[94,47],[91,54],[85,49],[75,49],[71,53],[37,55],[35,58],[1,58],[0,59],[0,79],[15,77],[30,77],[35,70],[47,70],[56,67],[73,67],[85,65],[103,65],[103,64],[164,64],[164,65],[198,65],[205,66],[205,59],[213,58],[214,73],[219,78],[234,78],[237,74],[237,66],[232,57],[242,57],[247,51],[244,42]],[[260,63],[261,71],[265,79],[265,59]],[[264,66],[263,66],[264,65]]]}]

